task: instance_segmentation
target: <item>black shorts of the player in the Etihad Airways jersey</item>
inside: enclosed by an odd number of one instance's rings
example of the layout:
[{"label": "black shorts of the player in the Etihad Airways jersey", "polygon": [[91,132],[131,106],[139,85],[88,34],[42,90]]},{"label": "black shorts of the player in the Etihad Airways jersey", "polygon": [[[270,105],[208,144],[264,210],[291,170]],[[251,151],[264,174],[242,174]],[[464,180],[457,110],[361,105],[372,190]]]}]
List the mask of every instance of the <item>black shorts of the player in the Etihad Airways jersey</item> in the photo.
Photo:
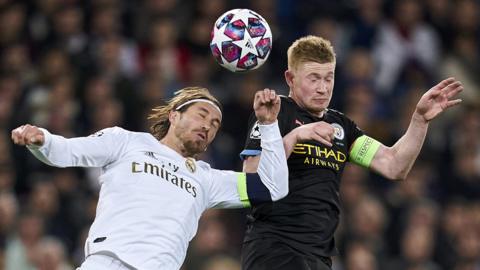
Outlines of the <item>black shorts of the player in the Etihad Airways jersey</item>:
[{"label": "black shorts of the player in the Etihad Airways jersey", "polygon": [[273,238],[243,243],[242,270],[331,270],[328,257],[303,256]]}]

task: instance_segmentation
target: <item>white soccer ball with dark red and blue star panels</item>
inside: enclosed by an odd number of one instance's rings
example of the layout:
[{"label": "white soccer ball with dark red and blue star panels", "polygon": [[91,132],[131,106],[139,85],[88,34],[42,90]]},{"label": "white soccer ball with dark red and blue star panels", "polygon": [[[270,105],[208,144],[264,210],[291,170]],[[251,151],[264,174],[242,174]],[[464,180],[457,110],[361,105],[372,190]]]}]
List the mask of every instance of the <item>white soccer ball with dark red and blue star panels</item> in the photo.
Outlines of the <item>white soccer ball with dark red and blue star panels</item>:
[{"label": "white soccer ball with dark red and blue star panels", "polygon": [[217,62],[233,72],[259,68],[272,50],[272,32],[262,16],[233,9],[220,16],[212,30],[210,49]]}]

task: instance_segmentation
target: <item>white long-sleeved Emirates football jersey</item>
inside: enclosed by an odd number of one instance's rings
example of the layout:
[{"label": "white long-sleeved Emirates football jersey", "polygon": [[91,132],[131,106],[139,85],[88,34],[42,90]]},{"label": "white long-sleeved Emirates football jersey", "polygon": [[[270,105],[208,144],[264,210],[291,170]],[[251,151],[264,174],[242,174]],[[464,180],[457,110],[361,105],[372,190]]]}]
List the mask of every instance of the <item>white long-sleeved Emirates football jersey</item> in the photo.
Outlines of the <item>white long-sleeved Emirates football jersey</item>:
[{"label": "white long-sleeved Emirates football jersey", "polygon": [[[274,198],[288,192],[285,151],[277,124],[261,128],[263,150],[271,151],[262,154],[258,174]],[[41,161],[102,168],[86,256],[108,252],[137,269],[179,269],[203,211],[245,205],[238,185],[244,173],[185,158],[149,133],[113,127],[66,139],[42,131],[44,145],[29,146]]]}]

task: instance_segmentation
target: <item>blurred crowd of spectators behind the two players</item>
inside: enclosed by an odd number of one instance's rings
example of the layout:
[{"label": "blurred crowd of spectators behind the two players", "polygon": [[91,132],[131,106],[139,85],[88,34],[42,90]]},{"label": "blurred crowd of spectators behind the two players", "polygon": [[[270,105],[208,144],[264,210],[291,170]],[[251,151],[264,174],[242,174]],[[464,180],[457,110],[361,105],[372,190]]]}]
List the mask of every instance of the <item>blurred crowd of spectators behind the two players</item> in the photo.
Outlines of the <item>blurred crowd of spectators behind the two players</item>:
[{"label": "blurred crowd of spectators behind the two players", "polygon": [[[209,41],[218,16],[240,7],[266,18],[274,41],[264,66],[234,74],[215,63]],[[477,0],[0,0],[0,269],[75,269],[99,190],[99,169],[47,167],[12,144],[14,127],[66,137],[115,125],[148,131],[153,106],[199,85],[224,105],[203,159],[241,170],[254,92],[288,94],[286,50],[304,34],[335,47],[331,107],[386,145],[435,82],[454,76],[465,88],[462,105],[431,123],[406,181],[347,167],[333,269],[480,269],[479,8]],[[207,211],[182,269],[239,270],[247,213]]]}]

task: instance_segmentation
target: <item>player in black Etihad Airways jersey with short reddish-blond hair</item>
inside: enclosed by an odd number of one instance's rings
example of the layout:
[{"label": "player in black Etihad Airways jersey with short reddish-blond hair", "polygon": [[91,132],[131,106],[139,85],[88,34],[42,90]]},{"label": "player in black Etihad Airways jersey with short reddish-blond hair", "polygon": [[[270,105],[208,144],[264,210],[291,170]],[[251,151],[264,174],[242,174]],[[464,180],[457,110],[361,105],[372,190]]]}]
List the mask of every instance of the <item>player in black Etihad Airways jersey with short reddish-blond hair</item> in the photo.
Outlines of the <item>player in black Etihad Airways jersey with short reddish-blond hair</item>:
[{"label": "player in black Etihad Airways jersey with short reddish-blond hair", "polygon": [[[453,78],[441,81],[418,101],[406,133],[391,147],[364,134],[347,116],[329,108],[335,82],[335,52],[329,41],[306,36],[288,49],[278,115],[288,158],[289,194],[252,208],[242,250],[244,270],[328,270],[337,254],[334,233],[340,216],[340,179],[346,162],[389,179],[404,179],[423,145],[428,124],[461,102]],[[250,120],[244,171],[255,171],[263,148],[256,118]],[[261,133],[261,132],[260,132]],[[300,142],[300,143],[298,143]],[[261,155],[260,155],[261,154]]]}]

